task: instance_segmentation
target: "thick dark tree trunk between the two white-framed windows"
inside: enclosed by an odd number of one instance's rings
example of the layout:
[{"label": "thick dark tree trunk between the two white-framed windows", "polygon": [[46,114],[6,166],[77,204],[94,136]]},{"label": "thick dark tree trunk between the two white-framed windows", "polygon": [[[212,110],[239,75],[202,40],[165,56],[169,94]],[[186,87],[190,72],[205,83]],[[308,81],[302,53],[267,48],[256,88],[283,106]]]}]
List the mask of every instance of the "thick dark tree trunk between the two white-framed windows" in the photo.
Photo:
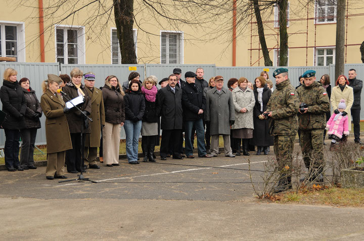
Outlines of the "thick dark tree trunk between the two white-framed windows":
[{"label": "thick dark tree trunk between the two white-framed windows", "polygon": [[121,64],[138,64],[133,36],[133,3],[133,0],[114,0],[115,25],[120,45]]}]

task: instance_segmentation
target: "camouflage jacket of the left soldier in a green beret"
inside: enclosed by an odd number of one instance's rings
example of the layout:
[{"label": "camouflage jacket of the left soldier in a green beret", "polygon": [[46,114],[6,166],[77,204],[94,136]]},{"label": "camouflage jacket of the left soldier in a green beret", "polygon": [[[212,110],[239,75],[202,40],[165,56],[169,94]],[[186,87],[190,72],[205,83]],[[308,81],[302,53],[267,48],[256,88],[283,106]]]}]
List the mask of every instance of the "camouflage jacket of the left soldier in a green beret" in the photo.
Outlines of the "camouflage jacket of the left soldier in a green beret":
[{"label": "camouflage jacket of the left soldier in a green beret", "polygon": [[270,134],[296,135],[298,129],[297,112],[299,99],[291,82],[285,80],[276,85],[267,103],[266,111],[271,111]]}]

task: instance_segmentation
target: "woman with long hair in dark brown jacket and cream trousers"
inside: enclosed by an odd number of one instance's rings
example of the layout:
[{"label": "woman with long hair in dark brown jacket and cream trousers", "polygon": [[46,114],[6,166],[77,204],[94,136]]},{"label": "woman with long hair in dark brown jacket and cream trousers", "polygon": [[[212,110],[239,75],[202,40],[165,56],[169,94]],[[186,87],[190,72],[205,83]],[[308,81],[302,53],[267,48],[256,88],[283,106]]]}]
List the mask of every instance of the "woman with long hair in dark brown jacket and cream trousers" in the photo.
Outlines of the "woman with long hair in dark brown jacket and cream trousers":
[{"label": "woman with long hair in dark brown jacket and cream trousers", "polygon": [[125,122],[124,91],[115,75],[105,80],[102,88],[105,106],[103,159],[106,166],[119,165],[120,129]]}]

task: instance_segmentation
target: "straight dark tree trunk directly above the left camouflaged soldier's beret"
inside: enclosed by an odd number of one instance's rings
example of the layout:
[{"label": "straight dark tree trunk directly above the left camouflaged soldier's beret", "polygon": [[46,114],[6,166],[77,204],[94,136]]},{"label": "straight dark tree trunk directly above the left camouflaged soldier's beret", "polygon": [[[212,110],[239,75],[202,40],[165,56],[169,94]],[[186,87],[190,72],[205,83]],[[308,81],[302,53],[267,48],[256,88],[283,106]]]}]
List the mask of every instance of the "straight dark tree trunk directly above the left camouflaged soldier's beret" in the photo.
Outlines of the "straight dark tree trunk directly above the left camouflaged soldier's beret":
[{"label": "straight dark tree trunk directly above the left camouflaged soldier's beret", "polygon": [[288,65],[288,33],[287,33],[287,7],[288,0],[278,1],[279,30],[280,30],[280,63],[279,66]]}]

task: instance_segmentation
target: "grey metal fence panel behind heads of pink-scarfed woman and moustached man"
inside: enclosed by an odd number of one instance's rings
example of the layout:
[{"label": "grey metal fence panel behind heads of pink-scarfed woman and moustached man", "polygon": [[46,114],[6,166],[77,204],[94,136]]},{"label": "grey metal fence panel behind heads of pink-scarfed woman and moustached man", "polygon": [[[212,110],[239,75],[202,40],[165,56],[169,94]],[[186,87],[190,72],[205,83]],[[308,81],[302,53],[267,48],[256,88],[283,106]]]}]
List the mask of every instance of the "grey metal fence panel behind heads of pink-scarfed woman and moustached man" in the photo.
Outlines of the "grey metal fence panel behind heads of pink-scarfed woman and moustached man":
[{"label": "grey metal fence panel behind heads of pink-scarfed woman and moustached man", "polygon": [[[158,78],[158,82],[173,74],[173,69],[179,68],[182,70],[181,79],[185,80],[185,73],[187,71],[196,72],[197,68],[204,69],[204,79],[208,81],[211,77],[215,76],[215,65],[159,65],[159,64],[146,64],[146,77],[154,75]],[[160,88],[160,85],[157,85]]]}]

